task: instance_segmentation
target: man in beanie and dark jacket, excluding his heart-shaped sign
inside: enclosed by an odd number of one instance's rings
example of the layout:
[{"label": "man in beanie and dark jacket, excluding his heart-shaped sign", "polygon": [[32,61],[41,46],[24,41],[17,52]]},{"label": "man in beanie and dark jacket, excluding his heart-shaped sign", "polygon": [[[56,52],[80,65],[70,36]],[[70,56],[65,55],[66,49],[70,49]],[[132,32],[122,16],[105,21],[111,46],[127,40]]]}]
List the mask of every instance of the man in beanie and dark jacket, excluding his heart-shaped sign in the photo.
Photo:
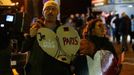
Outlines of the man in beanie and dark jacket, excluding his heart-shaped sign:
[{"label": "man in beanie and dark jacket, excluding his heart-shaped sign", "polygon": [[38,19],[32,23],[29,33],[29,47],[26,48],[30,50],[25,67],[26,75],[71,75],[69,64],[58,61],[44,52],[36,40],[37,31],[41,27],[56,31],[57,27],[60,26],[57,22],[58,13],[59,5],[55,1],[47,1],[42,10],[44,21]]}]

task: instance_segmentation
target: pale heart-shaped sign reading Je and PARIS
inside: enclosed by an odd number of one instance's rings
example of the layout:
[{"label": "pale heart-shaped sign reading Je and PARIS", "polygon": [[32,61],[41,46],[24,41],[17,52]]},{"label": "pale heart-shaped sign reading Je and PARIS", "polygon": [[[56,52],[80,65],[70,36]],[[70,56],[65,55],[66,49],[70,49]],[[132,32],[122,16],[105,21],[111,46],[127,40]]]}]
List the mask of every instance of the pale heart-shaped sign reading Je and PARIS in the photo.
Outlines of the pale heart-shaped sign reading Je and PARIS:
[{"label": "pale heart-shaped sign reading Je and PARIS", "polygon": [[80,37],[76,30],[60,26],[57,35],[48,28],[40,28],[37,41],[44,52],[64,63],[70,63],[79,49]]}]

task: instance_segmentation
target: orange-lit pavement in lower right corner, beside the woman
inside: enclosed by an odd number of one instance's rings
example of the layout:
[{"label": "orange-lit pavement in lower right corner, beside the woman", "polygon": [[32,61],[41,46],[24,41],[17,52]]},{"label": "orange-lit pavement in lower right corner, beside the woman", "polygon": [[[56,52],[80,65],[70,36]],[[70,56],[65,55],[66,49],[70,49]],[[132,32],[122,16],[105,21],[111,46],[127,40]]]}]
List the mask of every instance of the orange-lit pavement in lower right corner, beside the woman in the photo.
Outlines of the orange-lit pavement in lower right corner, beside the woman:
[{"label": "orange-lit pavement in lower right corner, beside the woman", "polygon": [[[113,43],[118,53],[121,55],[121,44]],[[132,50],[132,45],[128,44],[128,51],[125,52],[124,61],[122,62],[122,69],[120,75],[134,75],[134,51]]]}]

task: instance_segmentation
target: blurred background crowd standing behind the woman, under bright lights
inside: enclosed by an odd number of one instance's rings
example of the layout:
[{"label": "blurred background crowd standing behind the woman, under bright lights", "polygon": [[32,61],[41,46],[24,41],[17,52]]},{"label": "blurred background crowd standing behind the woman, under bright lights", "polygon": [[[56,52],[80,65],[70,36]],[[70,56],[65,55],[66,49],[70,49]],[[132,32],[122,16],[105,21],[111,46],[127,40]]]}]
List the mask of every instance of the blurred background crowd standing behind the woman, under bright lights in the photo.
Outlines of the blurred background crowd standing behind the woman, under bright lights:
[{"label": "blurred background crowd standing behind the woman, under bright lights", "polygon": [[[133,14],[128,16],[125,12],[121,14],[109,13],[108,16],[102,15],[103,12],[97,15],[87,16],[86,14],[71,14],[68,17],[65,25],[73,26],[78,32],[80,32],[81,38],[86,38],[88,35],[90,23],[97,18],[100,18],[106,28],[105,37],[108,37],[111,42],[122,44],[124,50],[128,50],[127,42],[128,36],[130,36],[130,44],[133,44]],[[77,17],[76,15],[79,15]],[[82,16],[84,15],[84,17]],[[77,24],[79,22],[79,24]],[[80,27],[80,30],[78,29]]]}]

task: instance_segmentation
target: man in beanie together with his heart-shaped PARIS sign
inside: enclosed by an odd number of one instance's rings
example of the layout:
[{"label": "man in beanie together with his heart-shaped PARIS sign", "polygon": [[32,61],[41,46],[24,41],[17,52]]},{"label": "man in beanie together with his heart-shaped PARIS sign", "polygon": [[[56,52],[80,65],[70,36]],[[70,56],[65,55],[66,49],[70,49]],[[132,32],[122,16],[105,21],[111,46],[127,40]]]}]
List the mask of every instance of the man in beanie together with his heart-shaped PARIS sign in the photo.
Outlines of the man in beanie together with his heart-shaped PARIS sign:
[{"label": "man in beanie together with his heart-shaped PARIS sign", "polygon": [[80,37],[74,29],[57,24],[56,2],[45,2],[42,13],[45,20],[37,19],[30,28],[26,75],[71,75],[70,62],[79,49]]}]

